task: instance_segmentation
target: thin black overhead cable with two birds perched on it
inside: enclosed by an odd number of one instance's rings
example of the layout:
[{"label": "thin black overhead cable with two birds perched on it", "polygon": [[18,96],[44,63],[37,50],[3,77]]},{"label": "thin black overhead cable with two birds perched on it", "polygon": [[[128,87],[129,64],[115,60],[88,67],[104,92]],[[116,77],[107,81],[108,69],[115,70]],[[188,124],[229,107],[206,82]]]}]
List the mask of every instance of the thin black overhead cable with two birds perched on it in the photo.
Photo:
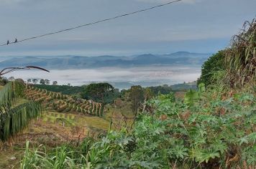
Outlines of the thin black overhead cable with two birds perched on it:
[{"label": "thin black overhead cable with two birds perched on it", "polygon": [[120,17],[124,17],[124,16],[129,16],[129,15],[133,15],[133,14],[137,14],[137,13],[140,13],[140,12],[143,12],[143,11],[149,11],[151,9],[155,9],[155,8],[159,8],[161,6],[167,6],[169,4],[173,4],[175,2],[178,2],[178,1],[183,1],[183,0],[175,0],[175,1],[169,1],[165,4],[160,4],[160,5],[157,5],[157,6],[152,6],[150,8],[147,8],[147,9],[141,9],[139,11],[132,11],[130,13],[127,13],[127,14],[121,14],[119,16],[114,16],[114,17],[111,17],[111,18],[108,18],[108,19],[102,19],[102,20],[99,20],[99,21],[94,21],[94,22],[91,22],[91,23],[88,23],[88,24],[81,24],[81,25],[78,25],[78,26],[73,26],[73,27],[70,27],[68,29],[62,29],[60,31],[57,31],[57,32],[50,32],[50,33],[47,33],[47,34],[41,34],[41,35],[38,35],[38,36],[35,36],[35,37],[28,37],[28,38],[25,38],[25,39],[21,39],[21,40],[17,40],[15,39],[15,42],[7,42],[5,44],[1,44],[0,47],[3,47],[3,46],[6,46],[6,45],[9,45],[9,44],[16,44],[16,43],[19,43],[19,42],[24,42],[24,41],[28,41],[28,40],[31,40],[31,39],[37,39],[37,38],[40,38],[40,37],[46,37],[46,36],[49,36],[49,35],[52,35],[52,34],[59,34],[61,32],[68,32],[70,30],[73,30],[73,29],[78,29],[78,28],[81,28],[83,26],[90,26],[90,25],[93,25],[93,24],[99,24],[101,22],[104,22],[104,21],[110,21],[110,20],[114,20],[114,19],[118,19]]}]

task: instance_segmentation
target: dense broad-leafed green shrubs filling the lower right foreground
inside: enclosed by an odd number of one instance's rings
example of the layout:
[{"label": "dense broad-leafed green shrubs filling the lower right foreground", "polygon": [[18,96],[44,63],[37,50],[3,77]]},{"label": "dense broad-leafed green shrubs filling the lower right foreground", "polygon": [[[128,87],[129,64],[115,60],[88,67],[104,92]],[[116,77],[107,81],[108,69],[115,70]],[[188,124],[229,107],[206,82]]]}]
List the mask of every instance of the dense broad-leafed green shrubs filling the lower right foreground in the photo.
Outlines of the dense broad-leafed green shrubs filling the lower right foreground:
[{"label": "dense broad-leafed green shrubs filling the lower right foreground", "polygon": [[[201,93],[204,100],[189,109],[168,97],[151,100],[155,111],[139,115],[132,131],[110,131],[93,143],[60,147],[29,165],[57,163],[52,157],[60,155],[67,159],[58,160],[60,168],[235,168],[244,161],[255,166],[255,96],[239,93],[220,100],[213,95],[220,93]],[[24,161],[29,154],[35,156],[35,150],[26,151]]]}]

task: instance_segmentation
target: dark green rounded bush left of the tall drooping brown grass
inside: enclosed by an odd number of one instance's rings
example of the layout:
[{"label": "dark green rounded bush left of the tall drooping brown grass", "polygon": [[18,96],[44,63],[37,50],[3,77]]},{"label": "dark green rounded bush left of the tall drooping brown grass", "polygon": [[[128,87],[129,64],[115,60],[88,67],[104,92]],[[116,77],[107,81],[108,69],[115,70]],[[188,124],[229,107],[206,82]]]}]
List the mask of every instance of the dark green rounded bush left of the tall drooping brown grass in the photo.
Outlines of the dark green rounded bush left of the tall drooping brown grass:
[{"label": "dark green rounded bush left of the tall drooping brown grass", "polygon": [[198,84],[204,83],[206,86],[209,84],[214,84],[214,77],[216,72],[225,69],[225,53],[224,51],[219,51],[213,54],[206,62],[202,65],[201,77],[198,79]]}]

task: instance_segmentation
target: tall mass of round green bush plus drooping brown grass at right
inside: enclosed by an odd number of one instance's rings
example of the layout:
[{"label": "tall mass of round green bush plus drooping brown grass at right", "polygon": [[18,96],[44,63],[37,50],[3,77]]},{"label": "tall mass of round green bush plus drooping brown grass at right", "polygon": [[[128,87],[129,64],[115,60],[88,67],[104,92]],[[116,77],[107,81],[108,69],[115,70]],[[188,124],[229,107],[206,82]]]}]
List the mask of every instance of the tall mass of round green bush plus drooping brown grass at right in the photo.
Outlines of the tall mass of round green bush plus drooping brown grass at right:
[{"label": "tall mass of round green bush plus drooping brown grass at right", "polygon": [[[243,29],[234,35],[229,48],[214,54],[201,69],[198,84],[216,84],[221,81],[227,89],[253,87],[256,77],[256,19],[245,21]],[[246,86],[244,86],[246,85]]]}]

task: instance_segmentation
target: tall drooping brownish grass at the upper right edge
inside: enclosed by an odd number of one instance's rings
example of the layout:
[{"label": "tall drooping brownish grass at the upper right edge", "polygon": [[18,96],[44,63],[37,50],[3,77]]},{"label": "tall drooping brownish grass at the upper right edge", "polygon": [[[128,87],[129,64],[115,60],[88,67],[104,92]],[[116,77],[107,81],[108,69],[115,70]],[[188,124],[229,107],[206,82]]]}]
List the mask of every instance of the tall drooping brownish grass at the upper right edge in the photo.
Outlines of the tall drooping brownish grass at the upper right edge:
[{"label": "tall drooping brownish grass at the upper right edge", "polygon": [[256,18],[245,21],[243,29],[232,39],[227,49],[227,77],[232,88],[242,88],[244,84],[255,84],[256,77]]}]

